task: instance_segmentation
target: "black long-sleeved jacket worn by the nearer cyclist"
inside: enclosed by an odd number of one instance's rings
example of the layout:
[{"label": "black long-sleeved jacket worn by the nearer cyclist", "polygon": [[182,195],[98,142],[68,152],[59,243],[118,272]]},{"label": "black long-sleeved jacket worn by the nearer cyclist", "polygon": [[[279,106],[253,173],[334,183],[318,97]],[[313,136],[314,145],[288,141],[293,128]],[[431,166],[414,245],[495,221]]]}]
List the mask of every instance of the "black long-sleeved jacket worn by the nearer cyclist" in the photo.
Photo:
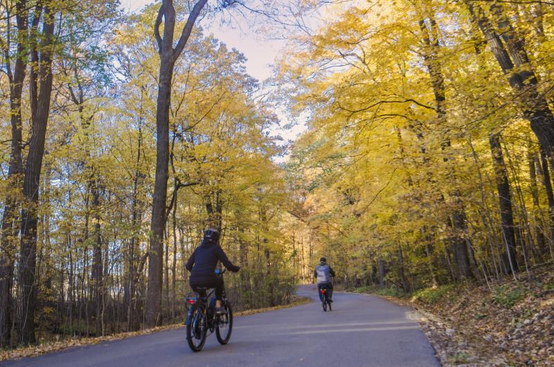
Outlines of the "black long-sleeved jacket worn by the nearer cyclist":
[{"label": "black long-sleeved jacket worn by the nearer cyclist", "polygon": [[186,269],[191,272],[189,283],[202,285],[211,282],[215,278],[214,271],[218,260],[230,271],[240,270],[240,267],[229,261],[220,246],[211,241],[202,241],[186,262]]}]

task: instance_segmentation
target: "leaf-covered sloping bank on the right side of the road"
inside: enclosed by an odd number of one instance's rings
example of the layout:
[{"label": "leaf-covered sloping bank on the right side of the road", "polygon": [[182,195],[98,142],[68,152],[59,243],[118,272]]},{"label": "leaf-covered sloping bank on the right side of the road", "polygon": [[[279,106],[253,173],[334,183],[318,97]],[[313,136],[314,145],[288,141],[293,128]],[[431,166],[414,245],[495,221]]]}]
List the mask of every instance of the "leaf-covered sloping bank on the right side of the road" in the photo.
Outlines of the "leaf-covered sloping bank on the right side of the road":
[{"label": "leaf-covered sloping bank on the right side of the road", "polygon": [[518,278],[413,294],[375,287],[355,292],[415,308],[443,366],[554,366],[554,267]]}]

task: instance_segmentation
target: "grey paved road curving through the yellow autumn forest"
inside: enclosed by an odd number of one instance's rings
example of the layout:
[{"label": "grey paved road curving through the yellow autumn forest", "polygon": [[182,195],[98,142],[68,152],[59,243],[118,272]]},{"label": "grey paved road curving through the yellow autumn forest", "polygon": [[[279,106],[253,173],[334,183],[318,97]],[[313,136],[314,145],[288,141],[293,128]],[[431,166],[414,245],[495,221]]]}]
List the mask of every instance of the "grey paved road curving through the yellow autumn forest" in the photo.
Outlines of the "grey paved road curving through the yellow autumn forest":
[{"label": "grey paved road curving through the yellow autumn forest", "polygon": [[[301,296],[317,297],[313,286]],[[208,336],[204,350],[188,348],[183,328],[71,348],[1,366],[440,366],[410,310],[380,298],[334,294],[332,312],[319,300],[235,318],[233,335],[220,346]]]}]

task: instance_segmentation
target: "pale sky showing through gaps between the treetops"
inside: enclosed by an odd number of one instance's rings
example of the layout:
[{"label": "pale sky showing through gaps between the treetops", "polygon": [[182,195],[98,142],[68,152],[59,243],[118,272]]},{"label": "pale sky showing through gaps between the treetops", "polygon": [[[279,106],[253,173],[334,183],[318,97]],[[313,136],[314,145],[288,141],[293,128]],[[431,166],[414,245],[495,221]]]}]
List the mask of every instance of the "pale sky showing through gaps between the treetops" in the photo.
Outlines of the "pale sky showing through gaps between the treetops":
[{"label": "pale sky showing through gaps between the treetops", "polygon": [[[120,0],[127,12],[139,12],[151,0]],[[200,23],[206,33],[212,33],[217,39],[224,42],[229,48],[236,48],[247,57],[247,72],[254,78],[263,80],[271,76],[271,65],[274,64],[279,51],[285,46],[283,40],[264,39],[257,35],[244,22],[235,22],[233,26],[222,25],[219,21],[204,19]],[[281,120],[281,125],[288,123],[283,111],[274,111]],[[300,123],[290,129],[276,128],[271,135],[280,135],[284,141],[294,141],[298,134],[305,130],[305,124]]]}]

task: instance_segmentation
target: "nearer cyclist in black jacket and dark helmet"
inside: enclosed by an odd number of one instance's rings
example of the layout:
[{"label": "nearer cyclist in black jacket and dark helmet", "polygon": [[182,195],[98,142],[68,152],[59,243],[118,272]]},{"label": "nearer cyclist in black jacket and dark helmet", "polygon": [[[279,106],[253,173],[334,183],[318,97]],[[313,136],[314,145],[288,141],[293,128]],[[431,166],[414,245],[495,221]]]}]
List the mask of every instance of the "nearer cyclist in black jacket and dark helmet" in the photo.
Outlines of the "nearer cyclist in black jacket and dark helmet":
[{"label": "nearer cyclist in black jacket and dark helmet", "polygon": [[223,312],[221,298],[224,284],[223,278],[215,275],[217,261],[221,261],[227,269],[235,273],[240,270],[240,267],[229,261],[223,249],[217,244],[219,240],[220,232],[217,229],[207,229],[204,232],[202,244],[186,262],[186,269],[190,271],[188,283],[195,292],[198,292],[198,287],[215,288],[215,312],[221,314]]}]

